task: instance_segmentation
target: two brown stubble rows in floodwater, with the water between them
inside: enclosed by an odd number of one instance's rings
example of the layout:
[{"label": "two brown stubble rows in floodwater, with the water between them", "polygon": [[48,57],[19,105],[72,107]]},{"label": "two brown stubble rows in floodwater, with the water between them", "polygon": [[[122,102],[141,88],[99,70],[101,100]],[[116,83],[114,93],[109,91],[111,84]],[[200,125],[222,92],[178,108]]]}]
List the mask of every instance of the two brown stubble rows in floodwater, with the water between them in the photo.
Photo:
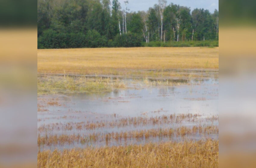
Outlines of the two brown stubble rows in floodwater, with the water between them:
[{"label": "two brown stubble rows in floodwater, with the water between them", "polygon": [[[164,110],[152,111],[160,113]],[[81,113],[81,112],[77,112]],[[142,114],[143,115],[143,114]],[[74,116],[70,116],[73,118]],[[62,119],[66,119],[63,116]],[[155,117],[118,118],[87,122],[66,122],[42,125],[38,128],[38,146],[63,146],[77,144],[132,143],[143,140],[188,140],[203,137],[216,137],[219,128],[218,116],[202,117],[199,114],[171,114]],[[215,123],[215,124],[214,124]],[[188,125],[188,126],[184,126]],[[117,131],[108,131],[111,130]],[[130,130],[128,130],[130,128]],[[145,129],[146,128],[146,129]],[[55,134],[61,132],[61,134]],[[75,132],[75,133],[73,133]]]}]

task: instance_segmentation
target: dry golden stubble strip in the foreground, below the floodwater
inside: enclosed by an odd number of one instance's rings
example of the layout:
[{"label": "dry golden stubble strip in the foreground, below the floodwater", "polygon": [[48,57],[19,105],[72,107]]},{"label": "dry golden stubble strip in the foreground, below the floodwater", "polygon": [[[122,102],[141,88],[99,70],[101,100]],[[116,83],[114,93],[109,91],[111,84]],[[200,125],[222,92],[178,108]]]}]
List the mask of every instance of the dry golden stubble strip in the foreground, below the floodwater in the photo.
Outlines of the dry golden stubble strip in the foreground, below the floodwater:
[{"label": "dry golden stubble strip in the foreground, below the floodwater", "polygon": [[86,149],[38,152],[38,168],[70,167],[218,167],[219,142],[148,143]]}]

